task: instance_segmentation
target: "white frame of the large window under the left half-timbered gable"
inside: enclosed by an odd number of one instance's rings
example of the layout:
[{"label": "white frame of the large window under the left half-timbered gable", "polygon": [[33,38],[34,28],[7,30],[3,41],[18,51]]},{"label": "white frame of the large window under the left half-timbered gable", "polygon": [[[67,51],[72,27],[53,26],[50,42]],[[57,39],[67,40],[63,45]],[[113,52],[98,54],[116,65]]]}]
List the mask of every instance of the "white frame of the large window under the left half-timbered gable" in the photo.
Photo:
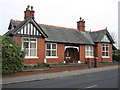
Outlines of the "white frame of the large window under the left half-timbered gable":
[{"label": "white frame of the large window under the left half-timbered gable", "polygon": [[[28,39],[28,41],[24,41],[23,39]],[[35,56],[30,56],[30,50],[33,48],[30,48],[30,39],[35,39],[35,41],[32,41],[34,43],[36,43],[36,48],[34,49],[36,51],[36,55]],[[25,56],[25,59],[32,59],[32,58],[38,58],[37,57],[37,39],[36,38],[28,38],[28,37],[23,37],[22,38],[22,50],[24,51],[25,48],[23,47],[23,43],[24,42],[29,42],[29,46],[28,46],[28,56]]]}]

